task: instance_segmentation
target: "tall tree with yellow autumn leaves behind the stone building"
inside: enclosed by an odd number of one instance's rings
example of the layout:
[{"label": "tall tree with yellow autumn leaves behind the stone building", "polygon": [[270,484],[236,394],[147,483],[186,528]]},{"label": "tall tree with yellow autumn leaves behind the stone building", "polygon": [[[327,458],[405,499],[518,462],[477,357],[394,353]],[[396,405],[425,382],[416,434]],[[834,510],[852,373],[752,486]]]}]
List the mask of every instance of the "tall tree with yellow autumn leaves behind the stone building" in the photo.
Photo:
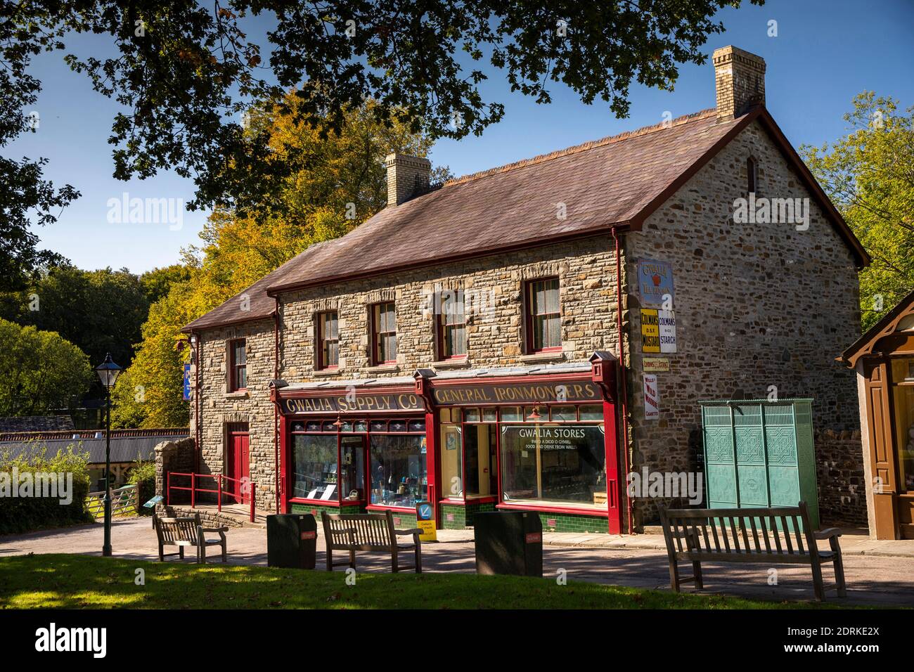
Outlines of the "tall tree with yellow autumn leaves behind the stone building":
[{"label": "tall tree with yellow autumn leaves behind the stone building", "polygon": [[[336,238],[387,205],[383,158],[389,152],[426,155],[430,140],[402,123],[378,123],[374,103],[346,111],[343,131],[326,138],[296,121],[300,104],[289,94],[284,105],[263,108],[250,119],[250,133],[267,133],[274,160],[282,151],[311,160],[277,186],[278,197],[256,212],[240,215],[216,209],[200,233],[202,245],[185,251],[189,280],[173,283],[156,301],[143,325],[133,365],[114,389],[112,421],[119,427],[186,424],[181,399],[182,368],[189,350],[178,350],[182,327],[260,280],[314,242]],[[450,171],[436,166],[435,180]],[[257,176],[250,175],[250,180]]]}]

